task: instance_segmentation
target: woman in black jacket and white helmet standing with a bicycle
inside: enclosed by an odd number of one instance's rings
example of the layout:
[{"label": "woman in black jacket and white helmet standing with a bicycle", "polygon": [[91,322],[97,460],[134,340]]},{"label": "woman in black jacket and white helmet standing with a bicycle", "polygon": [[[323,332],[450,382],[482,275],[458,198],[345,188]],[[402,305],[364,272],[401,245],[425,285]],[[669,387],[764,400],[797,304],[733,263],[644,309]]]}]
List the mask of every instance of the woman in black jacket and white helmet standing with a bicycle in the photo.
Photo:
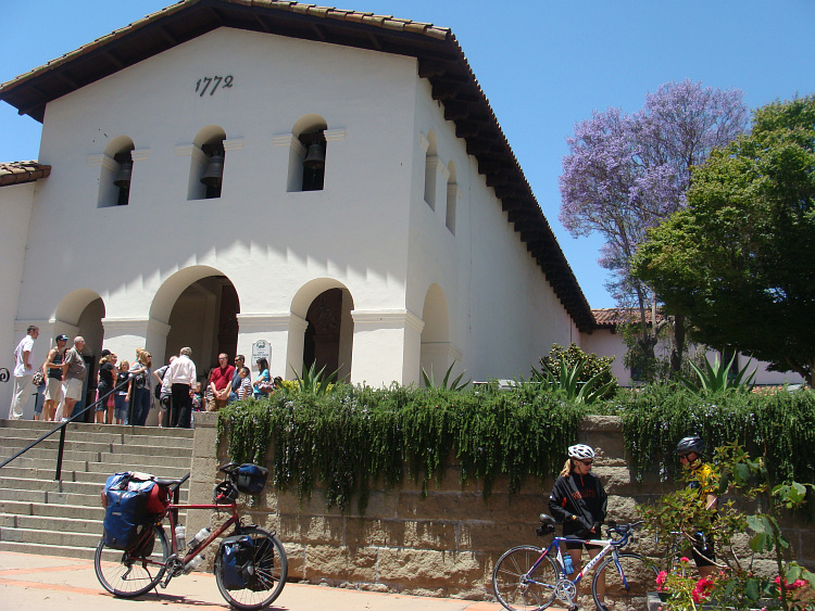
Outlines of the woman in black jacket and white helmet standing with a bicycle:
[{"label": "woman in black jacket and white helmet standing with a bicycle", "polygon": [[[563,536],[600,538],[600,526],[605,520],[607,496],[600,480],[591,474],[594,450],[578,444],[568,448],[568,460],[554,482],[549,497],[549,512],[563,522]],[[580,542],[567,543],[566,549],[574,565],[573,575],[582,568],[582,546]],[[586,550],[594,558],[602,546],[586,544]],[[573,577],[574,578],[574,577]],[[581,580],[582,583],[582,580]],[[598,578],[597,594],[600,600],[605,595],[605,576]],[[605,611],[605,604],[600,606]]]}]

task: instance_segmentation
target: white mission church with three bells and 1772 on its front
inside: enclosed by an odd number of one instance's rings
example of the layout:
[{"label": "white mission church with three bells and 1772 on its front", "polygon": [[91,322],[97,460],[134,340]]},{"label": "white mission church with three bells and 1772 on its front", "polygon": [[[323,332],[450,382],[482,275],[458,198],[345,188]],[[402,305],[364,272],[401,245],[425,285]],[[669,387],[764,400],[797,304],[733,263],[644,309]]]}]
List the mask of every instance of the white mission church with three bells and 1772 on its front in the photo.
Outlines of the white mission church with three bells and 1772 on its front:
[{"label": "white mission church with three bells and 1772 on its front", "polygon": [[42,123],[0,164],[0,367],[32,323],[39,362],[60,333],[201,373],[266,342],[275,375],[375,386],[619,351],[447,28],[185,0],[0,100]]}]

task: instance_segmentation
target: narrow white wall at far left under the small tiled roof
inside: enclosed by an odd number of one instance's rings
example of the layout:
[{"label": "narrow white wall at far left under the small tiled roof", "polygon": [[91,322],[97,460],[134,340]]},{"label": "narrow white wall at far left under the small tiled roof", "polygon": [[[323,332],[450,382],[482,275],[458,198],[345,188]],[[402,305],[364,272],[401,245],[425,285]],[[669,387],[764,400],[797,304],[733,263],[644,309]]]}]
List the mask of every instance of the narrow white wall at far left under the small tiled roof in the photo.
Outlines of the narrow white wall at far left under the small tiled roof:
[{"label": "narrow white wall at far left under the small tiled roof", "polygon": [[[43,181],[40,181],[40,184]],[[0,245],[2,265],[0,265],[0,369],[8,370],[8,380],[0,382],[0,418],[5,418],[11,404],[11,392],[14,384],[14,348],[25,335],[28,324],[39,324],[41,321],[33,313],[23,311],[18,315],[20,287],[23,281],[23,267],[28,240],[28,224],[32,217],[36,182],[23,184],[7,184],[0,188]],[[37,359],[45,357],[48,352],[47,335],[40,335],[35,343]],[[41,360],[40,360],[41,362]],[[39,365],[39,362],[37,364]],[[7,372],[0,371],[2,379]],[[34,386],[32,386],[34,390]],[[26,404],[26,417],[34,411],[34,399],[29,397]]]}]

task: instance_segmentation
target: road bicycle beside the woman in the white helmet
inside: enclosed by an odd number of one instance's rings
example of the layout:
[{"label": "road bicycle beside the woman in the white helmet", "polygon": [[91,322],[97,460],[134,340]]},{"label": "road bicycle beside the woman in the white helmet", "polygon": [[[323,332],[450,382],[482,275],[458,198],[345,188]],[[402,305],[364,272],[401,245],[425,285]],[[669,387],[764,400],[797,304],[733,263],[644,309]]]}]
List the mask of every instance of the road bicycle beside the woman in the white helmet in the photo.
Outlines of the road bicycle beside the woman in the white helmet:
[{"label": "road bicycle beside the woman in the white helmet", "polygon": [[[552,517],[541,513],[540,521],[539,536],[554,533],[555,521]],[[555,536],[543,548],[531,545],[513,547],[496,563],[492,591],[510,611],[546,609],[555,599],[568,608],[576,608],[577,584],[597,567],[591,593],[598,609],[602,609],[601,603],[617,611],[647,609],[648,591],[655,589],[656,569],[639,553],[620,551],[620,548],[634,542],[634,532],[641,524],[610,524],[607,539]],[[566,575],[561,550],[561,544],[567,542],[602,546],[602,550],[573,580]],[[605,575],[605,601],[599,599],[597,591],[601,575]]]}]

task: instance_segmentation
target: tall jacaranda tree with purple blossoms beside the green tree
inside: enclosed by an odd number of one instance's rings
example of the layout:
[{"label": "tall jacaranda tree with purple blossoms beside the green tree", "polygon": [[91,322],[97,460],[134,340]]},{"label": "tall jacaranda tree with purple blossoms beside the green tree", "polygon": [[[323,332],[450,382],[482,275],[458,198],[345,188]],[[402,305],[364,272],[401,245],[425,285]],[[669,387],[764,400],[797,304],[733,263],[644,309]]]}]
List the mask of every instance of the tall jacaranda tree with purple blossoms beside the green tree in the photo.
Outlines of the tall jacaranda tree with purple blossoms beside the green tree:
[{"label": "tall jacaranda tree with purple blossoms beside the green tree", "polygon": [[[575,238],[599,232],[604,239],[599,263],[613,272],[607,288],[620,306],[640,313],[639,348],[653,362],[656,326],[649,329],[645,309],[655,310],[653,291],[630,273],[630,259],[645,232],[685,206],[691,168],[714,148],[743,133],[748,111],[740,90],[704,88],[701,82],[666,82],[645,96],[639,112],[595,111],[567,138],[563,158],[560,220]],[[672,317],[670,367],[679,371],[686,323]]]}]

